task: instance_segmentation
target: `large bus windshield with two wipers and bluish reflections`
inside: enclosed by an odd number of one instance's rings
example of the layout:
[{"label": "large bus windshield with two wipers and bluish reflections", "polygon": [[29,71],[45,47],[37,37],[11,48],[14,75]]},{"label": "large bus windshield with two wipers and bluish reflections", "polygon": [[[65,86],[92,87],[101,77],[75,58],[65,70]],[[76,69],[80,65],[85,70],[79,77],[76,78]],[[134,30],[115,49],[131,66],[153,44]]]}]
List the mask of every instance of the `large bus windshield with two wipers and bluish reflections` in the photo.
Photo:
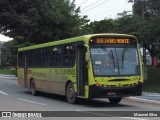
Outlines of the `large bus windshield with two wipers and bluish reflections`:
[{"label": "large bus windshield with two wipers and bluish reflections", "polygon": [[139,75],[140,63],[135,45],[91,46],[95,76]]}]

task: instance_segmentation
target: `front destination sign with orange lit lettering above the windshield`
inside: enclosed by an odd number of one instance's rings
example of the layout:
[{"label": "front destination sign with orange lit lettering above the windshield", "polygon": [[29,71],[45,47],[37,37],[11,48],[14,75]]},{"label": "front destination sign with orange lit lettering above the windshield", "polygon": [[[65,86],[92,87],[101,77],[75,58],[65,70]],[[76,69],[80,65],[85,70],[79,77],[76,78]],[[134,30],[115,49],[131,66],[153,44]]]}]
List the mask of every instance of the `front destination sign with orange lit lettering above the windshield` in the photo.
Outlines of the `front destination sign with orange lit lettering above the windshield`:
[{"label": "front destination sign with orange lit lettering above the windshield", "polygon": [[118,37],[95,37],[90,40],[90,44],[135,44],[133,38],[118,38]]}]

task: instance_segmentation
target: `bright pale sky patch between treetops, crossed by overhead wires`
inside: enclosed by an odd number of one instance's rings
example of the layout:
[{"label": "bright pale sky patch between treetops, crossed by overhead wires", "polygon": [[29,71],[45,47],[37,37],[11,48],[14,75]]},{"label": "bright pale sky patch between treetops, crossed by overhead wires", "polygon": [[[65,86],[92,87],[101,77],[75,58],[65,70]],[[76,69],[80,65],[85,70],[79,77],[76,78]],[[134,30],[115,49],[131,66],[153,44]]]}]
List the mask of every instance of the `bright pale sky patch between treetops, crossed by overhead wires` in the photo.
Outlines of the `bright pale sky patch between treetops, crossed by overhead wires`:
[{"label": "bright pale sky patch between treetops, crossed by overhead wires", "polygon": [[91,21],[99,21],[105,18],[117,18],[123,11],[132,12],[132,3],[128,0],[76,0],[76,6],[81,7],[81,15],[87,15]]}]

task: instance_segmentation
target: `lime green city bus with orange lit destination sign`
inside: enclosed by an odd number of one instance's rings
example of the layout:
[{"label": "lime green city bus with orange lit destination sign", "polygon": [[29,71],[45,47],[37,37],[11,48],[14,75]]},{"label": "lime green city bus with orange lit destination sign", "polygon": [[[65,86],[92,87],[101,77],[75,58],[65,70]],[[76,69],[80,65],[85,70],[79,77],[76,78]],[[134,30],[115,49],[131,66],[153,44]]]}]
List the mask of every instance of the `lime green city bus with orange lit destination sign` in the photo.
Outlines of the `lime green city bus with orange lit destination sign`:
[{"label": "lime green city bus with orange lit destination sign", "polygon": [[18,49],[18,84],[31,94],[48,92],[77,98],[140,96],[143,65],[136,37],[91,34]]}]

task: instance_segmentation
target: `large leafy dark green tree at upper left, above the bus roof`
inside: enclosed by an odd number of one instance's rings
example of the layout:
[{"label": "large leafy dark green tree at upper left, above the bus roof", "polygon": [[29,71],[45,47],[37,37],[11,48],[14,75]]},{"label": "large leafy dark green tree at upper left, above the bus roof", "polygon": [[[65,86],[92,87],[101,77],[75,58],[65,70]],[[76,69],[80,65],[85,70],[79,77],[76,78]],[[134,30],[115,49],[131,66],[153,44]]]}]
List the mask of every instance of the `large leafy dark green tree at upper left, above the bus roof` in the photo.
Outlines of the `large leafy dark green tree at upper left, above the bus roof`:
[{"label": "large leafy dark green tree at upper left, above the bus roof", "polygon": [[0,6],[1,32],[36,44],[80,35],[86,24],[70,0],[1,0]]}]

